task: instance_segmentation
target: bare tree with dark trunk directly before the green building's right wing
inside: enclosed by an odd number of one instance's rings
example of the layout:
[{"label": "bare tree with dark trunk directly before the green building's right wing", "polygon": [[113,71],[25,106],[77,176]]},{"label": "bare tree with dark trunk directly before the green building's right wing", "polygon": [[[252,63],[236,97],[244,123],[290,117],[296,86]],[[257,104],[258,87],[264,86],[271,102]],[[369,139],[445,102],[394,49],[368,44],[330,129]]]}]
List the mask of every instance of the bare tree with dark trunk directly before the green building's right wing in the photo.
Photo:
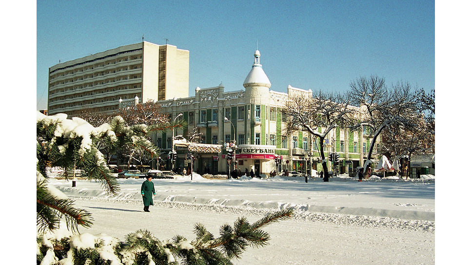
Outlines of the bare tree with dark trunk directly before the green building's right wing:
[{"label": "bare tree with dark trunk directly before the green building's right wing", "polygon": [[318,150],[325,172],[323,181],[329,181],[327,160],[323,152],[325,138],[334,128],[352,124],[353,110],[346,94],[322,91],[313,95],[293,95],[283,109],[287,114],[287,134],[301,129],[318,138]]}]

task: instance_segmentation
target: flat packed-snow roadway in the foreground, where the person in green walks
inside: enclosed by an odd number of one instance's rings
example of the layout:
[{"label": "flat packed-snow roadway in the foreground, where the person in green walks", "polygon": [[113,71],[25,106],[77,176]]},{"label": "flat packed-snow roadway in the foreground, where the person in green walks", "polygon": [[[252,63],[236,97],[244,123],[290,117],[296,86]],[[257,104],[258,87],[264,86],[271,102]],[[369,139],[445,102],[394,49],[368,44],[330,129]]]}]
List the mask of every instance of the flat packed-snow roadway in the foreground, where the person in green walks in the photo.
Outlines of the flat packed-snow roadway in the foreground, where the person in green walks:
[{"label": "flat packed-snow roadway in the foreground, where the person in green walks", "polygon": [[[138,202],[140,203],[140,202]],[[244,209],[198,210],[188,204],[165,203],[142,211],[140,204],[78,199],[76,205],[92,212],[95,224],[81,232],[124,239],[138,229],[148,229],[159,239],[180,234],[195,238],[193,227],[202,223],[214,235],[223,223],[239,216],[254,222],[263,215]],[[231,208],[231,207],[230,207]],[[238,214],[245,211],[244,215]],[[311,264],[434,264],[434,233],[385,227],[337,225],[327,222],[286,220],[264,229],[271,235],[268,246],[249,248],[236,265]]]}]

